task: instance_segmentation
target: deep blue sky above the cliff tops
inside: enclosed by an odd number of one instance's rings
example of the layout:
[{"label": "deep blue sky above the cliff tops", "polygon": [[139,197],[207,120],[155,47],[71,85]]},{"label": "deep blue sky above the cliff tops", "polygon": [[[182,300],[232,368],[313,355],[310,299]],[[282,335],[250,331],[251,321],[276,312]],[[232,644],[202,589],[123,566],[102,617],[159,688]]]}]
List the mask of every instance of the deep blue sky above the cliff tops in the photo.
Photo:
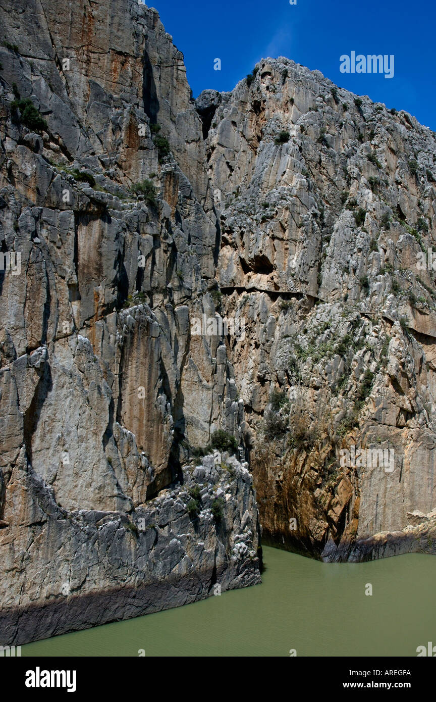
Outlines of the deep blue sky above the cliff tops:
[{"label": "deep blue sky above the cliff tops", "polygon": [[[149,6],[151,4],[149,3]],[[434,0],[156,0],[193,94],[230,91],[259,59],[287,56],[341,88],[407,110],[436,131]],[[393,54],[395,74],[343,74],[339,57]],[[214,59],[222,61],[214,71]]]}]

